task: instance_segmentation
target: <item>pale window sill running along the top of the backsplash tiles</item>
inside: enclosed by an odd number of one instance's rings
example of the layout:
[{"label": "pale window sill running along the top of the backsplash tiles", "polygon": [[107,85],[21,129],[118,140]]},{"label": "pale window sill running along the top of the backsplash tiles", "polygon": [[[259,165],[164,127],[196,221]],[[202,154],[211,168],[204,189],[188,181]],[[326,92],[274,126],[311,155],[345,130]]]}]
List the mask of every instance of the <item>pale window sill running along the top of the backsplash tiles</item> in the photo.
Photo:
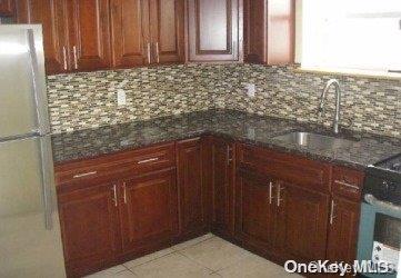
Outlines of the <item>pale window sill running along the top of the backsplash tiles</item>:
[{"label": "pale window sill running along the top of the backsplash tiles", "polygon": [[387,80],[401,80],[401,73],[392,73],[384,71],[372,70],[352,70],[352,69],[315,69],[315,68],[302,68],[298,67],[293,69],[295,72],[309,72],[318,75],[333,75],[333,76],[347,76],[347,77],[362,77],[373,79],[387,79]]}]

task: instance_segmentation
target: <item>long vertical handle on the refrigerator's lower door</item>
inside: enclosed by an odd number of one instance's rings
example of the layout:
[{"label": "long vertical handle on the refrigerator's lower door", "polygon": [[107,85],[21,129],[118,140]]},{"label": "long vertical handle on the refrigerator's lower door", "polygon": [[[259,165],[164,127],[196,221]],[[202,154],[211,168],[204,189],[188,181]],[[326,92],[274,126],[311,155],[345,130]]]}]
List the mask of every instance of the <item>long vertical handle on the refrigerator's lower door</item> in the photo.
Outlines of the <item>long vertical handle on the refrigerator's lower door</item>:
[{"label": "long vertical handle on the refrigerator's lower door", "polygon": [[51,230],[53,228],[53,189],[54,170],[51,150],[51,139],[49,136],[40,138],[40,156],[42,170],[42,190],[43,190],[43,210],[44,210],[44,228]]}]

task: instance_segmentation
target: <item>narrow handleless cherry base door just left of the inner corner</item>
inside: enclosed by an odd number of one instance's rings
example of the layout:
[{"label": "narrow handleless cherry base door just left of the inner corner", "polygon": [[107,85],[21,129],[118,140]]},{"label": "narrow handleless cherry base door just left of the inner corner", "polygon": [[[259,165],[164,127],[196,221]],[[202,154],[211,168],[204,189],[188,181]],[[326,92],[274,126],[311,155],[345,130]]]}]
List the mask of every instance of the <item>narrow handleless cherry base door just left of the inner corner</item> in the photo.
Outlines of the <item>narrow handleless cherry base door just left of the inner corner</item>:
[{"label": "narrow handleless cherry base door just left of the inner corner", "polygon": [[177,180],[180,198],[180,237],[192,237],[208,230],[208,187],[203,177],[201,138],[177,145]]}]

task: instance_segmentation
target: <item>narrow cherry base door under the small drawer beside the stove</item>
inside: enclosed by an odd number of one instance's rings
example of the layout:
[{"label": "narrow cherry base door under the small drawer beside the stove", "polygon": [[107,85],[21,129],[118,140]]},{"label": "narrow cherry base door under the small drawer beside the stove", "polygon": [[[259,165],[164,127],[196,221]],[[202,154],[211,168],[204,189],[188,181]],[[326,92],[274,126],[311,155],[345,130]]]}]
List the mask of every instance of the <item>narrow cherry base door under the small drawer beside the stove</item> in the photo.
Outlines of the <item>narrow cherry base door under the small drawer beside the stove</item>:
[{"label": "narrow cherry base door under the small drawer beside the stove", "polygon": [[332,199],[328,259],[350,264],[357,259],[360,206],[338,197]]}]

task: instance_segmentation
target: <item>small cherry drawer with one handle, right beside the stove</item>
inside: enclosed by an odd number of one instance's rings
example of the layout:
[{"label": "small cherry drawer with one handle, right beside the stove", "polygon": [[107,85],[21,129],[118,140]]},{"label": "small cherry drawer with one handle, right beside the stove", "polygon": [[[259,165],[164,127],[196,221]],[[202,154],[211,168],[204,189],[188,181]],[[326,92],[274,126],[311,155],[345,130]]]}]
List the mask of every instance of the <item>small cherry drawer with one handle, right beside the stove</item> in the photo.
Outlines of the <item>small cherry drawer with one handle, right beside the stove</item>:
[{"label": "small cherry drawer with one handle, right beside the stove", "polygon": [[332,191],[334,195],[360,200],[364,175],[361,171],[333,167]]}]

